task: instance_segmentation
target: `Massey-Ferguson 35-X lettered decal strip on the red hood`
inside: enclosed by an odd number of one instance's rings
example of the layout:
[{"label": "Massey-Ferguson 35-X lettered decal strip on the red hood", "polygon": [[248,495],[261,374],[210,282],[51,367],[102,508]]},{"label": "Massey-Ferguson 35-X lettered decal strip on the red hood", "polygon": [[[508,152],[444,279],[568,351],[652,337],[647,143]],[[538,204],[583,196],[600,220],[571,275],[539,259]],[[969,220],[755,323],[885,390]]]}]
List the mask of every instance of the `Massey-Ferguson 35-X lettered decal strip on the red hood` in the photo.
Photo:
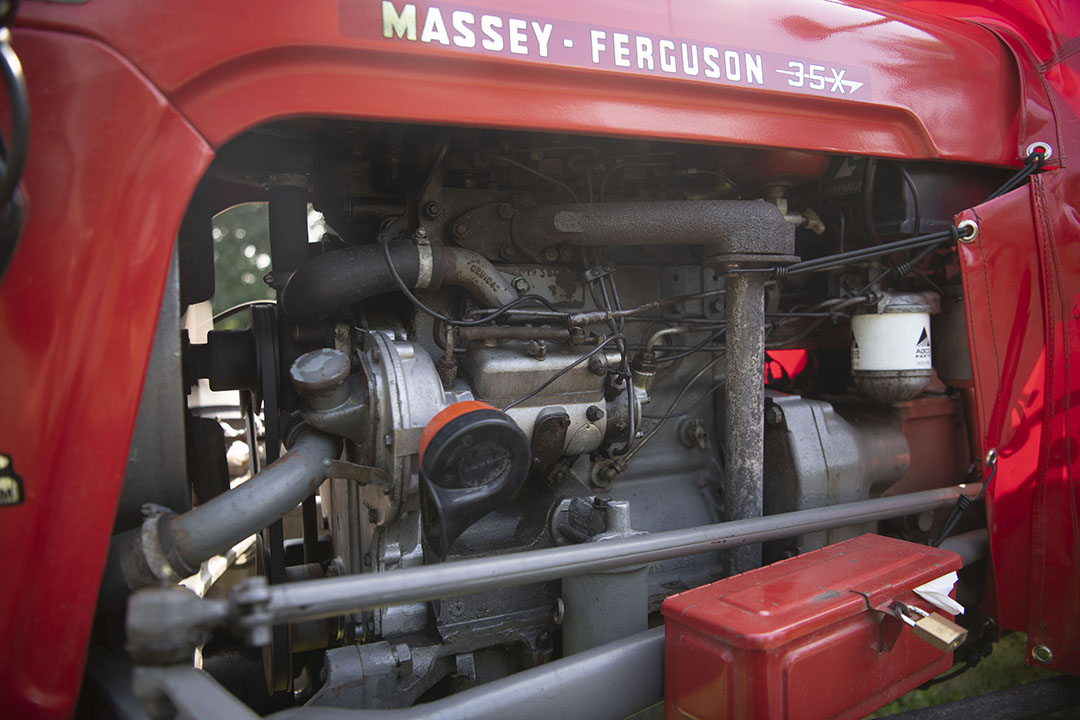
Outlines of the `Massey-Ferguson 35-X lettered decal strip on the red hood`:
[{"label": "Massey-Ferguson 35-X lettered decal strip on the red hood", "polygon": [[[341,0],[342,31],[366,35],[351,27],[354,6],[347,11],[345,3],[349,1]],[[848,65],[460,6],[392,0],[382,0],[381,6],[382,37],[399,42],[635,74],[869,99],[867,71]]]}]

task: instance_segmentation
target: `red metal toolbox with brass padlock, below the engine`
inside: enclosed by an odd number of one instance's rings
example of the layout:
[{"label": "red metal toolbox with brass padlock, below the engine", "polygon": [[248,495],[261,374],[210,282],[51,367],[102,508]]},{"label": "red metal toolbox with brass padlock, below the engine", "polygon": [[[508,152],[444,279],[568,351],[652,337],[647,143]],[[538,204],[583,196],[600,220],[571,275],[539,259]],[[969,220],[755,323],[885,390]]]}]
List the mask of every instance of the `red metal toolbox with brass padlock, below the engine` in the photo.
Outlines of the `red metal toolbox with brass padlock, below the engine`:
[{"label": "red metal toolbox with brass padlock, below the engine", "polygon": [[862,535],[664,601],[667,720],[861,718],[944,673],[896,601],[961,567],[936,547]]}]

